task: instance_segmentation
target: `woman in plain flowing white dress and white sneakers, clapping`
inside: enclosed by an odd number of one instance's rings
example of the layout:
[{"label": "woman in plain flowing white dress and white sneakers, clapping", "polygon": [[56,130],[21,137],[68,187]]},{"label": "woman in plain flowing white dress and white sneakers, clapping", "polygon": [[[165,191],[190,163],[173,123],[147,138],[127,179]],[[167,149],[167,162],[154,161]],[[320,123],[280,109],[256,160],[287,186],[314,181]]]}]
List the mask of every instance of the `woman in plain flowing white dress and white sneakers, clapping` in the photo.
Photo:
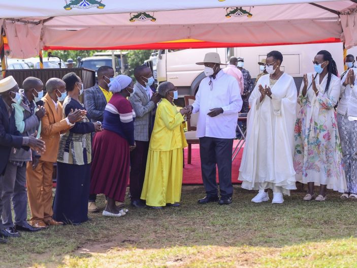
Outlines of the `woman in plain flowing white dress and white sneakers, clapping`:
[{"label": "woman in plain flowing white dress and white sneakers, clapping", "polygon": [[267,55],[267,75],[257,81],[249,98],[247,137],[239,169],[242,188],[259,190],[252,202],[282,203],[283,194],[296,189],[294,124],[297,88],[293,77],[280,70],[283,56],[279,51]]}]

